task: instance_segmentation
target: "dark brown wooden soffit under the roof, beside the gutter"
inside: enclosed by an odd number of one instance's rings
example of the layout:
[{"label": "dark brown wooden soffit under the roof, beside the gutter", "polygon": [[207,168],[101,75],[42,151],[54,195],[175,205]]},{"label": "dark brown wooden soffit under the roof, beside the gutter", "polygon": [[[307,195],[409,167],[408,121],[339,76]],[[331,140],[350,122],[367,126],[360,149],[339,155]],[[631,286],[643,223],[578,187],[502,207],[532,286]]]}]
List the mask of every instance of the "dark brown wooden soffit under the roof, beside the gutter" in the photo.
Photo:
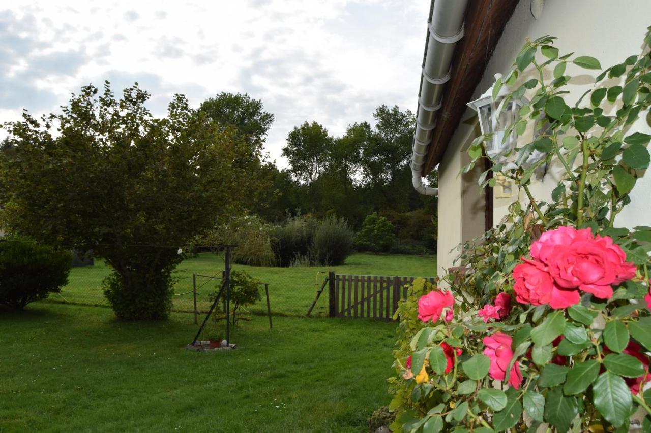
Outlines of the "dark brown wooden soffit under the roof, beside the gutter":
[{"label": "dark brown wooden soffit under the roof, beside the gutter", "polygon": [[456,46],[452,60],[452,76],[443,90],[432,142],[422,176],[441,162],[443,153],[461,122],[466,103],[475,92],[484,70],[493,55],[497,41],[511,18],[519,0],[470,0],[465,12],[464,37]]}]

